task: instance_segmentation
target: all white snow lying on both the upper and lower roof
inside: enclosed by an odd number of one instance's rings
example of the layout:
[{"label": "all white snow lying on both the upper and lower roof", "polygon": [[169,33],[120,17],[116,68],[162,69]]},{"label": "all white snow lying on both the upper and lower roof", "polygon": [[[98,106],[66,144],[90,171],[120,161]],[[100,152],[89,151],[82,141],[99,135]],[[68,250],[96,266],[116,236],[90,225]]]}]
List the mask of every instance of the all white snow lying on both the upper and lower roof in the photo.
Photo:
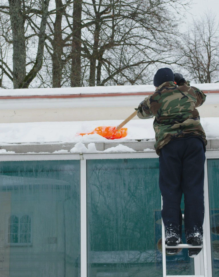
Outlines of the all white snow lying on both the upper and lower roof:
[{"label": "all white snow lying on both the upper and lower roof", "polygon": [[[192,85],[192,84],[191,84]],[[204,91],[219,91],[219,83],[215,84],[193,84]],[[43,88],[43,89],[1,89],[1,96],[27,96],[27,95],[76,95],[76,94],[103,94],[103,93],[135,93],[135,92],[153,92],[153,85],[125,85],[125,86],[106,86],[106,87],[68,87],[68,88]],[[214,94],[214,95],[213,95]],[[217,96],[218,93],[212,93],[211,96]],[[210,97],[209,101],[216,103],[218,97]],[[1,97],[0,97],[1,98]],[[97,97],[98,98],[98,97]],[[28,99],[25,99],[28,100]],[[7,100],[2,100],[7,101]],[[21,100],[20,101],[24,101]],[[91,100],[96,103],[96,100]],[[86,101],[85,101],[86,102]],[[115,102],[115,101],[114,101]],[[113,102],[113,107],[115,103]],[[26,103],[26,102],[25,102]],[[83,101],[84,103],[84,101]],[[217,102],[218,103],[218,102]],[[5,105],[5,102],[3,103]],[[2,105],[3,105],[2,104]],[[60,101],[59,101],[60,104]],[[111,102],[108,105],[111,105]],[[83,104],[84,105],[84,104]],[[90,102],[89,102],[90,105]],[[120,104],[119,104],[120,105]],[[133,103],[132,103],[133,105]],[[104,107],[106,101],[104,101]],[[29,106],[28,106],[29,107]],[[34,122],[34,123],[1,123],[0,124],[0,143],[1,145],[11,144],[58,144],[73,143],[75,146],[71,149],[72,153],[97,152],[95,143],[108,143],[100,135],[78,136],[77,133],[88,133],[98,126],[117,126],[120,120],[102,120],[102,121],[75,121],[75,122]],[[218,118],[202,118],[201,123],[206,131],[208,139],[219,139]],[[113,140],[113,147],[106,152],[135,152],[125,145],[119,143],[130,140],[150,140],[155,141],[153,130],[153,119],[149,120],[132,120],[125,126],[128,128],[128,135],[124,139]],[[117,144],[115,144],[115,142]],[[88,144],[86,147],[84,144]],[[114,147],[115,146],[115,147]],[[56,149],[57,150],[57,149]],[[132,151],[133,150],[133,151]],[[150,149],[146,149],[149,151]],[[64,150],[66,151],[66,150]],[[154,151],[154,150],[153,150]],[[6,150],[1,149],[0,153],[4,154]],[[9,152],[7,152],[8,154]],[[59,153],[59,152],[57,152]]]}]

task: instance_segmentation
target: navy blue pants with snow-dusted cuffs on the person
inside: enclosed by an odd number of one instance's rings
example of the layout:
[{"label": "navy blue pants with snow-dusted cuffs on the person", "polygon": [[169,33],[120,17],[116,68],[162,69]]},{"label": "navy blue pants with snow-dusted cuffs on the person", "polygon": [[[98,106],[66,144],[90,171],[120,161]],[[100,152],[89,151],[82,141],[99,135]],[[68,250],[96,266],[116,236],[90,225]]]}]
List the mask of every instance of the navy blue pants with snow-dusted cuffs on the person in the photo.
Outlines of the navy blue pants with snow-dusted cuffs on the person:
[{"label": "navy blue pants with snow-dusted cuffs on the person", "polygon": [[181,239],[184,194],[186,241],[203,235],[205,146],[198,137],[179,138],[161,149],[159,156],[159,187],[163,197],[161,211],[166,239]]}]

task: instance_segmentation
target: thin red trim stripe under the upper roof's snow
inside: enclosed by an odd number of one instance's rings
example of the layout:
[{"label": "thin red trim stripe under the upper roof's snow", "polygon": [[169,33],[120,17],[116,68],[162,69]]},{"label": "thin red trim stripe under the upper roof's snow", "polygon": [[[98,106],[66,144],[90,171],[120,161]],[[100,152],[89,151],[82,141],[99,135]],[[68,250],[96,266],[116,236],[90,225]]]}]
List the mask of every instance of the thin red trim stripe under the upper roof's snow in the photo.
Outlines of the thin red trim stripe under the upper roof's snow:
[{"label": "thin red trim stripe under the upper roof's snow", "polygon": [[[204,91],[204,93],[219,93],[219,90]],[[131,96],[131,95],[149,95],[151,92],[130,92],[130,93],[95,93],[95,94],[69,94],[69,95],[23,95],[23,96],[0,96],[1,99],[33,99],[33,98],[84,98],[84,97],[111,97],[111,96]]]}]

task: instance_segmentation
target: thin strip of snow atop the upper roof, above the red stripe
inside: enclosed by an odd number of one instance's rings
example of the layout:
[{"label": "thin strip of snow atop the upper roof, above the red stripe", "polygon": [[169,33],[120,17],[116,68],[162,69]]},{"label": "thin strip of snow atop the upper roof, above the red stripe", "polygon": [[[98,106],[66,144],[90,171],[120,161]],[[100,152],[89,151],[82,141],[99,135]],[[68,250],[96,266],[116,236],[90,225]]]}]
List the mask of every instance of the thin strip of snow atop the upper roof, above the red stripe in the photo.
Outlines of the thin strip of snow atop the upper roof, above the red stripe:
[{"label": "thin strip of snow atop the upper roof, above the red stripe", "polygon": [[[194,84],[203,91],[219,90],[219,83]],[[32,89],[1,89],[2,96],[31,96],[31,95],[80,95],[80,94],[101,94],[101,93],[134,93],[153,92],[154,85],[115,85],[97,87],[62,87],[62,88],[32,88]]]}]

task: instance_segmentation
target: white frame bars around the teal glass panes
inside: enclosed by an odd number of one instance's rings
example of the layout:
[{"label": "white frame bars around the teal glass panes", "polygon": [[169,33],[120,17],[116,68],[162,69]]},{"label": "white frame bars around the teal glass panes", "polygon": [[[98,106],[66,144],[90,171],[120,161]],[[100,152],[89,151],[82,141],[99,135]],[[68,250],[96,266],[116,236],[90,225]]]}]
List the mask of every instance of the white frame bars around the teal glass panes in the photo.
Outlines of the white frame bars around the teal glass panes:
[{"label": "white frame bars around the teal glass panes", "polygon": [[[10,154],[0,155],[0,161],[34,161],[34,160],[80,160],[80,235],[81,235],[81,277],[87,277],[87,184],[86,184],[86,160],[101,159],[141,159],[158,158],[155,152],[139,153],[94,153],[94,154]],[[210,243],[210,213],[208,198],[208,174],[207,160],[219,159],[219,150],[206,150],[204,197],[205,197],[205,219],[204,228],[206,232],[207,266],[208,277],[212,277],[211,243]],[[32,230],[32,228],[31,228]],[[32,238],[32,235],[31,235]],[[204,275],[202,255],[194,258],[194,274]]]}]

